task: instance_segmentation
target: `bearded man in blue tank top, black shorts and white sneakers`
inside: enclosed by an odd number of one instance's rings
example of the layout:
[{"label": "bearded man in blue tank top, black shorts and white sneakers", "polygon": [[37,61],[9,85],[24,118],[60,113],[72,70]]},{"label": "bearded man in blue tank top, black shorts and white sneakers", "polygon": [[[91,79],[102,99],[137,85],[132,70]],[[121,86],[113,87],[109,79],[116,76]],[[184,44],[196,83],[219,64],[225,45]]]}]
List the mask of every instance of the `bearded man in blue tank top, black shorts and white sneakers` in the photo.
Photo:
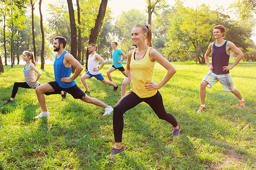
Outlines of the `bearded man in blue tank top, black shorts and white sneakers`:
[{"label": "bearded man in blue tank top, black shorts and white sneakers", "polygon": [[[85,101],[86,103],[92,103],[94,105],[105,108],[104,115],[111,114],[111,112],[113,111],[113,108],[111,106],[106,105],[98,99],[89,97],[80,88],[78,88],[78,86],[76,86],[75,79],[81,73],[83,67],[71,54],[64,50],[66,43],[67,41],[63,37],[54,38],[53,51],[57,52],[55,56],[55,61],[53,63],[55,81],[45,83],[36,88],[36,95],[42,109],[42,113],[34,118],[37,119],[50,116],[50,114],[47,112],[44,93],[61,92],[64,89],[65,92],[71,94],[75,99],[80,99],[82,101]],[[71,66],[76,68],[75,73],[72,77]]]}]

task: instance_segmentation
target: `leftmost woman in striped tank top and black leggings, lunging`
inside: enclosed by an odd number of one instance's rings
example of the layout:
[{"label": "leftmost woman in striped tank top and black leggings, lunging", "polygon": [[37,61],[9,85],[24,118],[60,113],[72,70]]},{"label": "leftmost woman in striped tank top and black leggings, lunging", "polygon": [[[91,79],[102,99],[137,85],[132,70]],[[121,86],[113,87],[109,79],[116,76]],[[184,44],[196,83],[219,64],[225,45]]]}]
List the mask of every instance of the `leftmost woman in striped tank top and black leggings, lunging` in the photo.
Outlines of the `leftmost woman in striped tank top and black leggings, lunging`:
[{"label": "leftmost woman in striped tank top and black leggings, lunging", "polygon": [[[22,55],[23,61],[26,62],[26,64],[23,65],[23,74],[25,77],[25,82],[15,82],[13,89],[12,89],[12,93],[11,93],[11,99],[9,99],[8,101],[6,101],[6,103],[4,103],[4,105],[7,105],[8,103],[13,102],[15,95],[18,92],[18,88],[36,88],[37,86],[39,86],[39,82],[38,79],[41,76],[40,71],[36,68],[36,64],[34,62],[34,56],[31,52],[29,51],[24,51],[23,55]],[[37,74],[36,79],[35,79],[35,73]],[[46,95],[50,95],[52,93],[46,93]],[[65,99],[66,98],[66,92],[59,92],[56,94],[61,94],[62,98]]]}]

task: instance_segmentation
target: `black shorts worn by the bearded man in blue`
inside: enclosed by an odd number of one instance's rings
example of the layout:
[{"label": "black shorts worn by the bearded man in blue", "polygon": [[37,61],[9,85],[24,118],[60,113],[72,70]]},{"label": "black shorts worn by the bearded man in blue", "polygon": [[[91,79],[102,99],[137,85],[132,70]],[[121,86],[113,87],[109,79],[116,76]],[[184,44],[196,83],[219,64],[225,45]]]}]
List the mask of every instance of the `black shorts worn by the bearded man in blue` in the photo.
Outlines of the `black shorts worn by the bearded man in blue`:
[{"label": "black shorts worn by the bearded man in blue", "polygon": [[70,88],[62,88],[56,81],[48,82],[48,84],[52,86],[55,92],[65,91],[71,94],[74,99],[82,99],[83,97],[85,97],[85,93],[78,86],[76,86],[76,84]]}]

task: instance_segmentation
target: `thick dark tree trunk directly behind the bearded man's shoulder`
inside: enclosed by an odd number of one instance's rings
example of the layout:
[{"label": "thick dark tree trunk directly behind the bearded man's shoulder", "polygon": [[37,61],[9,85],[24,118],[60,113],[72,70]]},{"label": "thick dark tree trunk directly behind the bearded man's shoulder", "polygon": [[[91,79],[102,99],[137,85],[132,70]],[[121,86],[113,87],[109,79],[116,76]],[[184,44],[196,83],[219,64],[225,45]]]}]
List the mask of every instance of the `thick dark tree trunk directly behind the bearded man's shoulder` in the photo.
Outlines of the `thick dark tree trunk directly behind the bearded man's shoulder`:
[{"label": "thick dark tree trunk directly behind the bearded man's shoulder", "polygon": [[[75,21],[75,13],[73,8],[72,0],[67,0],[67,5],[69,7],[69,21],[70,21],[70,30],[71,30],[71,50],[70,54],[74,56],[74,58],[77,60],[76,57],[76,21]],[[75,72],[75,67],[72,66],[72,73]]]}]

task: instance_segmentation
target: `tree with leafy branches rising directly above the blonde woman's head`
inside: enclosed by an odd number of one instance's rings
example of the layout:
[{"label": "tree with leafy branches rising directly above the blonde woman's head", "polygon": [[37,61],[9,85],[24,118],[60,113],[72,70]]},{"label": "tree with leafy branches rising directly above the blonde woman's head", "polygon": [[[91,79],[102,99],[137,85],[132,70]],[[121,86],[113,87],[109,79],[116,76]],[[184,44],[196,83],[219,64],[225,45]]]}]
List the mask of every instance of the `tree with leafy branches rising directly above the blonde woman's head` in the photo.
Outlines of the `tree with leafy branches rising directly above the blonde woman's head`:
[{"label": "tree with leafy branches rising directly above the blonde woman's head", "polygon": [[159,11],[159,9],[162,9],[164,7],[167,7],[165,0],[146,0],[147,2],[147,13],[149,15],[147,23],[151,25],[151,18],[152,14]]}]

